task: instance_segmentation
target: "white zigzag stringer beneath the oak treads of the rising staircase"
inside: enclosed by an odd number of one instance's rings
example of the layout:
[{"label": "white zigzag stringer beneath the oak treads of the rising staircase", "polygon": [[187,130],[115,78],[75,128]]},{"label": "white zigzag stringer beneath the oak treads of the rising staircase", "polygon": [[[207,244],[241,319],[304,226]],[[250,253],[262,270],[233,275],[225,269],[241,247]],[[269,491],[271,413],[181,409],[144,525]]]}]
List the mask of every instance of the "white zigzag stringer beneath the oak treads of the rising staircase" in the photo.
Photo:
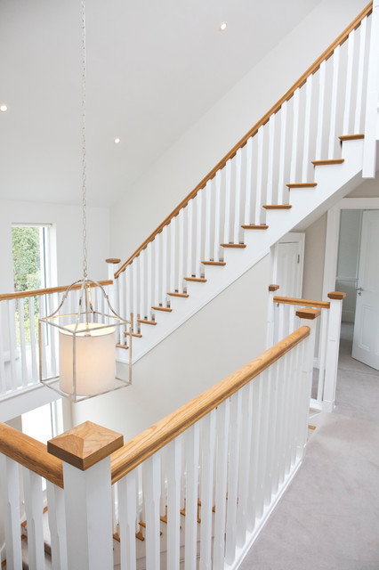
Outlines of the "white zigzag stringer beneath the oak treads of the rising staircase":
[{"label": "white zigzag stringer beneath the oak treads of the rising staircase", "polygon": [[[226,265],[206,265],[206,282],[187,282],[189,297],[170,297],[171,313],[156,312],[157,325],[141,324],[141,338],[133,338],[133,362],[178,329],[193,314],[246,273],[270,252],[280,238],[297,224],[311,223],[362,181],[363,141],[343,142],[343,164],[315,167],[315,188],[291,189],[291,209],[268,210],[267,230],[244,232],[246,248],[225,248]],[[128,362],[123,349],[117,349],[117,361]],[[124,353],[124,354],[123,354]]]}]

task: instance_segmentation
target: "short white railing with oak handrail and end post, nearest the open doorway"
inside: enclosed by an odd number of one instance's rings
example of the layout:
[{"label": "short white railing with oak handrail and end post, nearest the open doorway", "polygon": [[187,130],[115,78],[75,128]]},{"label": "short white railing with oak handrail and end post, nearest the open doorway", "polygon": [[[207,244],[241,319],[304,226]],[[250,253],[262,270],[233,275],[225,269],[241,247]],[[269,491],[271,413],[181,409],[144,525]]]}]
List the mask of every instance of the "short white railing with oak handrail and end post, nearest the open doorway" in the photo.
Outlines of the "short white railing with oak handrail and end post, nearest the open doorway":
[{"label": "short white railing with oak handrail and end post, nearest the open doorway", "polygon": [[283,338],[291,330],[297,329],[301,315],[298,311],[299,306],[315,307],[320,310],[314,357],[314,368],[319,372],[317,381],[315,379],[312,386],[310,400],[311,407],[320,411],[333,411],[335,408],[341,318],[346,293],[332,291],[327,297],[329,301],[273,296],[272,319],[269,323],[269,338],[272,342],[278,342],[278,338]]}]

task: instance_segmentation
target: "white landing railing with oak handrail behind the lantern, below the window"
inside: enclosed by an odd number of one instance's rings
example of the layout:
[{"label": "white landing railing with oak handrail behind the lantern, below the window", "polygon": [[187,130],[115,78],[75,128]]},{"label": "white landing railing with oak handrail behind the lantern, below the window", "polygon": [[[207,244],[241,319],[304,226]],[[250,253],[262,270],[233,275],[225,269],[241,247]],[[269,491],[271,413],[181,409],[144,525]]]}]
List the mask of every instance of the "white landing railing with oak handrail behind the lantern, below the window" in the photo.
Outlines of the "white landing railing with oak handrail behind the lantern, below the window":
[{"label": "white landing railing with oak handrail behind the lantern, below the window", "polygon": [[[109,287],[112,280],[100,281]],[[58,370],[57,333],[47,337],[42,327],[41,362],[38,352],[38,318],[59,306],[67,286],[18,291],[0,295],[0,401],[9,395],[29,390],[39,384],[42,366],[44,378],[55,376]],[[80,284],[69,292],[73,313],[77,311]],[[97,289],[94,291],[95,299]],[[101,302],[101,296],[99,299]],[[51,327],[52,328],[52,327]]]}]

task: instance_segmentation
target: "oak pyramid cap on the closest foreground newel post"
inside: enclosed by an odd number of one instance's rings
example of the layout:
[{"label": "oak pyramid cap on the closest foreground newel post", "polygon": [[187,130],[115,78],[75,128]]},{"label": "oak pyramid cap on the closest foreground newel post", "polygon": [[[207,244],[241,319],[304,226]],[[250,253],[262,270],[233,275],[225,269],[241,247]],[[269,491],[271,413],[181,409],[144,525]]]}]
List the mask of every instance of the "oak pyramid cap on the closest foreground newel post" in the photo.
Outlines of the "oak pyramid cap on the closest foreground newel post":
[{"label": "oak pyramid cap on the closest foreground newel post", "polygon": [[85,421],[47,442],[47,451],[85,471],[124,445],[124,436]]}]

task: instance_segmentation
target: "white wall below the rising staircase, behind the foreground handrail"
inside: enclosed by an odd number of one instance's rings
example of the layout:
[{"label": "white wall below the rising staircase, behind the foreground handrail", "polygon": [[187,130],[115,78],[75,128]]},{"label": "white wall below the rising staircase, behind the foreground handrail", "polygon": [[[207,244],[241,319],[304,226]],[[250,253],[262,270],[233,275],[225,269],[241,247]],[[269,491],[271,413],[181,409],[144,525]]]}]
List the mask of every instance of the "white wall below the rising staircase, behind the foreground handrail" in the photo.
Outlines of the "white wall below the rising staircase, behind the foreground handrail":
[{"label": "white wall below the rising staircase, behind the foreground handrail", "polygon": [[265,350],[269,256],[133,366],[133,386],[73,404],[125,440],[165,417]]}]

